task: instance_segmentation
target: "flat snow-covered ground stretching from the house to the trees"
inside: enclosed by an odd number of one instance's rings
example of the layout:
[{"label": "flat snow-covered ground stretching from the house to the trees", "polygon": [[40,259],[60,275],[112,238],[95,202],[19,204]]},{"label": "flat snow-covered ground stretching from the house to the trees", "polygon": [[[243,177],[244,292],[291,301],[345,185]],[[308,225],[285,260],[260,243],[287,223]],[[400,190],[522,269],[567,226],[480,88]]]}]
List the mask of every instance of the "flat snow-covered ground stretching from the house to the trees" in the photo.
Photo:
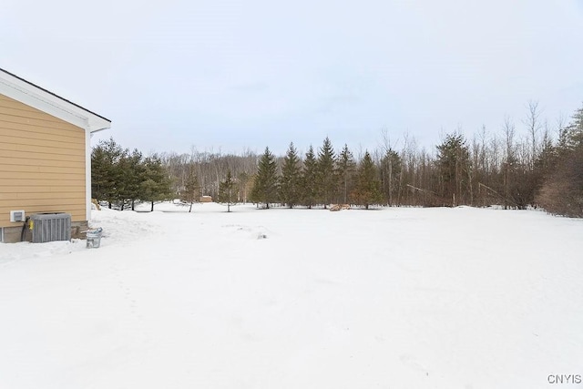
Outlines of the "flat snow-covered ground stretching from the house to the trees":
[{"label": "flat snow-covered ground stretching from the house to the trees", "polygon": [[224,210],[94,210],[99,249],[0,243],[0,388],[547,388],[583,374],[583,220]]}]

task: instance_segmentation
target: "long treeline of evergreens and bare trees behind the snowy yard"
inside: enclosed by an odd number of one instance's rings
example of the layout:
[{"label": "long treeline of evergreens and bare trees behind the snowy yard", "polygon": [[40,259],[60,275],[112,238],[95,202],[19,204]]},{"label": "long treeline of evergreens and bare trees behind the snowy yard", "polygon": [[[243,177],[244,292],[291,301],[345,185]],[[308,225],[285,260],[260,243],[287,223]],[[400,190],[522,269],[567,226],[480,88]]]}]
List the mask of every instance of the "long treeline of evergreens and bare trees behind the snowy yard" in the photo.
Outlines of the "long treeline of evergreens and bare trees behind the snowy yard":
[{"label": "long treeline of evergreens and bare trees behind the snowy yard", "polygon": [[506,118],[497,134],[486,128],[471,139],[449,133],[431,152],[407,136],[396,148],[384,132],[382,145],[356,157],[325,138],[303,155],[291,143],[280,157],[269,148],[261,155],[193,148],[144,158],[111,138],[93,148],[93,196],[122,208],[136,200],[192,204],[209,195],[266,208],[501,205],[583,217],[583,107],[555,128],[539,117],[537,103],[530,103],[521,134]]}]

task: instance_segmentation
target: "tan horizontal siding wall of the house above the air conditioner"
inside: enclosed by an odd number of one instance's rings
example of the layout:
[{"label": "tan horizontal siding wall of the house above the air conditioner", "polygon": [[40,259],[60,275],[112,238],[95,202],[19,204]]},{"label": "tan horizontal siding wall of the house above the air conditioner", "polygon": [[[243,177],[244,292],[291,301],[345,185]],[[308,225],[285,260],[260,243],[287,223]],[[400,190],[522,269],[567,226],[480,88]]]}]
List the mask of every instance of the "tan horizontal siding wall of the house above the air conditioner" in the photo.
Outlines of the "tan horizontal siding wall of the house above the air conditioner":
[{"label": "tan horizontal siding wall of the house above the air conditioner", "polygon": [[10,210],[86,219],[85,130],[0,95],[0,227]]}]

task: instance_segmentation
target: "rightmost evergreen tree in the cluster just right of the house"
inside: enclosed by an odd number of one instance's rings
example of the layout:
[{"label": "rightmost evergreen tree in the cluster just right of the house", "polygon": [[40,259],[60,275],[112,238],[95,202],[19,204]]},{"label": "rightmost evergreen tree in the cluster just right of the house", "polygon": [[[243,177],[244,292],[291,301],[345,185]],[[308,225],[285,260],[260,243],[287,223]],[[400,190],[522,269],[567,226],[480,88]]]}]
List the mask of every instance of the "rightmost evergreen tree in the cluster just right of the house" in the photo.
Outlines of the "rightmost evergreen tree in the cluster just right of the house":
[{"label": "rightmost evergreen tree in the cluster just right of the house", "polygon": [[167,200],[172,196],[171,180],[157,155],[144,160],[144,181],[140,185],[140,199],[151,203],[154,210],[156,201]]}]

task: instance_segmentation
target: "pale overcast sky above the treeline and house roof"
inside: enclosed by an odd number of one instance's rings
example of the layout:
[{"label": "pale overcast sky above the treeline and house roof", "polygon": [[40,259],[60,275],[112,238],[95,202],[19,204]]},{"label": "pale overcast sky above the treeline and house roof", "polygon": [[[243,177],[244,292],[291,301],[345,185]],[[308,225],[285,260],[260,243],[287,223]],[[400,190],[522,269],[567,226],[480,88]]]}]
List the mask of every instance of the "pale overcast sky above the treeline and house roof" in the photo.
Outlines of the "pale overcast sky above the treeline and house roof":
[{"label": "pale overcast sky above the treeline and house roof", "polygon": [[[156,3],[148,5],[148,3]],[[0,67],[112,120],[127,148],[433,151],[583,104],[583,0],[190,0],[0,6]]]}]

